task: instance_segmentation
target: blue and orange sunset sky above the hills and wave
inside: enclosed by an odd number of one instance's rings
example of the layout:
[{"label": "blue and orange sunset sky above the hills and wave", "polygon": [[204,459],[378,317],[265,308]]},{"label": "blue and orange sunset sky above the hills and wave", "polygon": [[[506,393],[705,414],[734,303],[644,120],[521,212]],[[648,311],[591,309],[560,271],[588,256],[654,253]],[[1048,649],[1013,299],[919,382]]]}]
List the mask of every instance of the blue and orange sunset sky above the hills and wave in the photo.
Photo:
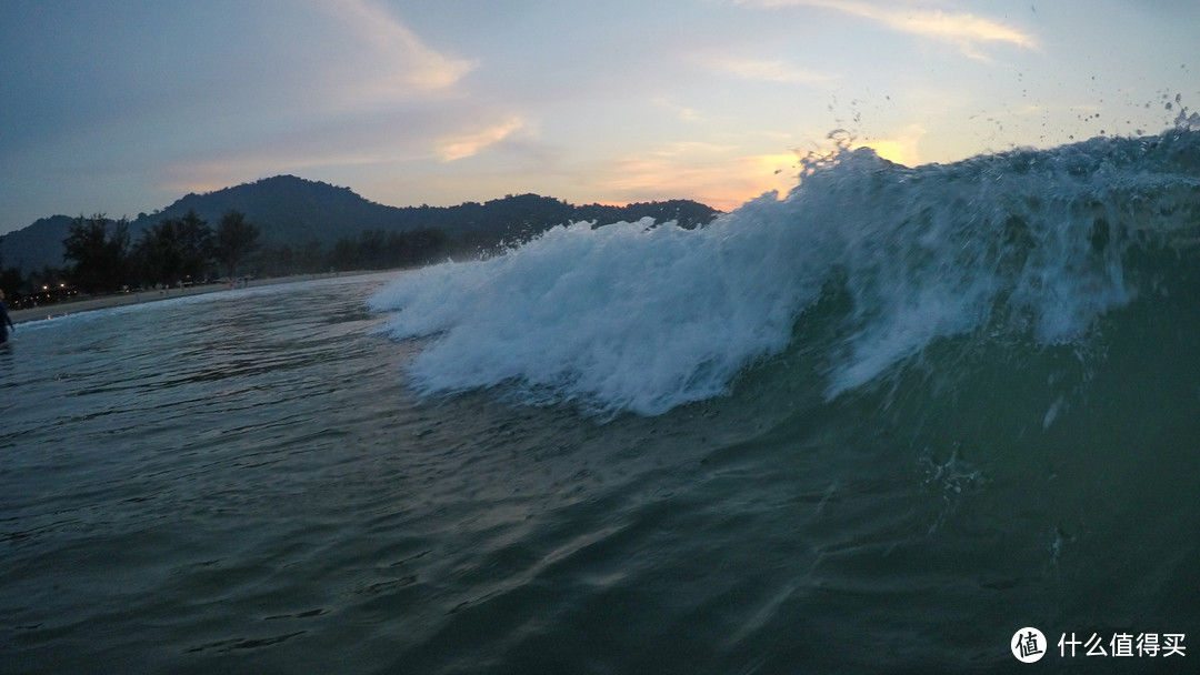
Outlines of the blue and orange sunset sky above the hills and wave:
[{"label": "blue and orange sunset sky above the hills and wave", "polygon": [[1200,108],[1196,26],[1194,0],[0,0],[0,234],[281,174],[731,210],[839,128],[907,165],[1159,133]]}]

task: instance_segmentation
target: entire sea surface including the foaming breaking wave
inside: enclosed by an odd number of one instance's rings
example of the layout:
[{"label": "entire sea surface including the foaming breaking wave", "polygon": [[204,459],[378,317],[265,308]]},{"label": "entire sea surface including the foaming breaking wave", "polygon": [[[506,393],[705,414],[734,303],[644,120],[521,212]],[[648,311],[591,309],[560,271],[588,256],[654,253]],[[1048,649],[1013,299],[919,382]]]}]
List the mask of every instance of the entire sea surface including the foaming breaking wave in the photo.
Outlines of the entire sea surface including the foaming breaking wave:
[{"label": "entire sea surface including the foaming breaking wave", "polygon": [[14,337],[0,673],[1200,668],[1194,131]]}]

